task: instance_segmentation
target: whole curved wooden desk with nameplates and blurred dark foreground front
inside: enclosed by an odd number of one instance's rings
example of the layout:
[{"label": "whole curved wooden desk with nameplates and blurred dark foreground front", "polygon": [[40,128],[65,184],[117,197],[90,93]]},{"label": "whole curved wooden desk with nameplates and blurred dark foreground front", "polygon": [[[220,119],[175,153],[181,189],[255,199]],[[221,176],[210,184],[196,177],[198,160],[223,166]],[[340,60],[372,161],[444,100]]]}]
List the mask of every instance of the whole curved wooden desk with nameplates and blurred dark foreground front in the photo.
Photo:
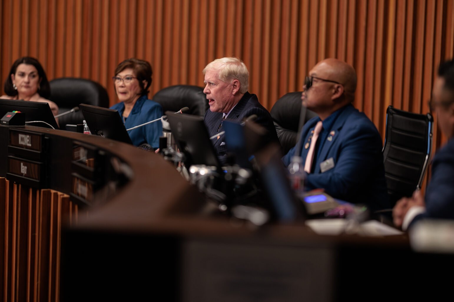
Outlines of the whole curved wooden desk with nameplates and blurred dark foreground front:
[{"label": "whole curved wooden desk with nameplates and blurred dark foreground front", "polygon": [[109,139],[32,126],[0,139],[2,301],[369,300],[453,266],[405,236],[204,216],[171,164]]}]

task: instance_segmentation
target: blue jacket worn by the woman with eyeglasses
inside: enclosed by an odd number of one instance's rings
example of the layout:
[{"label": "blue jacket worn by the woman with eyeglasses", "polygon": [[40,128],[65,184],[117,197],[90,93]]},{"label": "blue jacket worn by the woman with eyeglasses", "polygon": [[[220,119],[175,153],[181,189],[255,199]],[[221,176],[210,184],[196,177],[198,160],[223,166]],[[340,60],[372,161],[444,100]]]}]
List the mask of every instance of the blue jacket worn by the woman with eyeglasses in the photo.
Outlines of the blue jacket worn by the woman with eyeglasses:
[{"label": "blue jacket worn by the woman with eyeglasses", "polygon": [[[119,102],[113,105],[110,109],[118,110],[120,116],[123,115],[124,103]],[[163,115],[163,108],[156,102],[148,100],[147,96],[141,96],[134,104],[133,110],[129,114],[124,126],[126,129],[144,124],[151,120],[156,120]],[[163,123],[160,120],[128,131],[134,146],[141,144],[149,144],[154,149],[159,148],[159,136],[163,135]]]}]

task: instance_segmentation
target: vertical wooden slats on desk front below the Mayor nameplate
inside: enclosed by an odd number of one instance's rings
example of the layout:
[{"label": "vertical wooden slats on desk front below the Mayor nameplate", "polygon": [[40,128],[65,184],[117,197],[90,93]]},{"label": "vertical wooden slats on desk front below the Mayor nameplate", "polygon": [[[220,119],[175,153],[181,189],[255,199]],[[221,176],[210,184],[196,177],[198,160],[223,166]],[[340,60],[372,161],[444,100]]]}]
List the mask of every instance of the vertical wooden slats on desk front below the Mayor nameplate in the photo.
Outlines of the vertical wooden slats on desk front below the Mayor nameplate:
[{"label": "vertical wooden slats on desk front below the Mayor nameplate", "polygon": [[0,300],[58,301],[61,229],[77,222],[69,196],[0,177]]}]

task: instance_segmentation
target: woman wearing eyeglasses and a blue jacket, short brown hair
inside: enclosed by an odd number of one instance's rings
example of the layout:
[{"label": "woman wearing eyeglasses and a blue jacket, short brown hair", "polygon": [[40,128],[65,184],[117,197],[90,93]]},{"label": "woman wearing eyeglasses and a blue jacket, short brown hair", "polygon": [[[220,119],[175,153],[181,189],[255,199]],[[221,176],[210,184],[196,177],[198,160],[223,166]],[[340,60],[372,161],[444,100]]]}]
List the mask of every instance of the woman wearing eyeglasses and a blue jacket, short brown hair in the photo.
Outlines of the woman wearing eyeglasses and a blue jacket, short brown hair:
[{"label": "woman wearing eyeglasses and a blue jacket, short brown hair", "polygon": [[[114,87],[120,102],[110,108],[118,110],[126,129],[163,115],[161,105],[148,100],[152,74],[150,63],[136,58],[124,60],[115,68]],[[162,133],[161,121],[128,131],[135,146],[149,144],[153,149],[158,149]]]}]

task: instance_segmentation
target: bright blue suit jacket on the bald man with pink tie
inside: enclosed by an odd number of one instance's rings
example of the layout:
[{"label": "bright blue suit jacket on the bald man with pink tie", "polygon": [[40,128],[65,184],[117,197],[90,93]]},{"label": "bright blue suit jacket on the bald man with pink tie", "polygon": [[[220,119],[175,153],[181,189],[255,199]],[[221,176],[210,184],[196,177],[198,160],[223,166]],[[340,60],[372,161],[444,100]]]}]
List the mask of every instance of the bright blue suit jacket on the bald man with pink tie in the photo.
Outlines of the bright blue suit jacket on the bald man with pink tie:
[{"label": "bright blue suit jacket on the bald man with pink tie", "polygon": [[[303,163],[309,151],[305,144],[319,120],[312,118],[301,129]],[[325,141],[317,157],[314,173],[306,173],[306,188],[323,188],[334,198],[367,204],[373,211],[389,208],[382,142],[375,125],[364,113],[347,105],[332,125],[332,131],[331,141]],[[282,158],[286,166],[294,154],[295,147]],[[322,173],[320,164],[330,158],[334,167]]]}]

